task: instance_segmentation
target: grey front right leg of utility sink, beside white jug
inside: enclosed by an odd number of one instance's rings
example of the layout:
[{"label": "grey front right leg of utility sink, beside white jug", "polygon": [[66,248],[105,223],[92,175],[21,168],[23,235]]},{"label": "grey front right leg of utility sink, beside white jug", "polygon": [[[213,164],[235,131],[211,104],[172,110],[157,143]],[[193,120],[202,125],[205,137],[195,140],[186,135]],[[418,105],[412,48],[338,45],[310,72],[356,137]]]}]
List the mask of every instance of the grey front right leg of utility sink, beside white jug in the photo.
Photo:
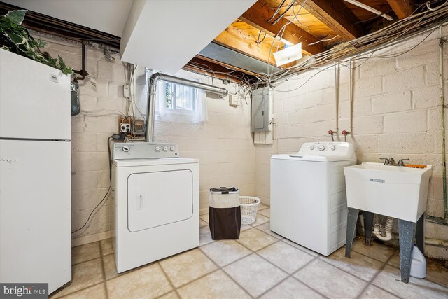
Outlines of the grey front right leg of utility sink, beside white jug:
[{"label": "grey front right leg of utility sink, beside white jug", "polygon": [[398,219],[400,233],[400,269],[401,281],[407,284],[411,273],[412,247],[416,223]]}]

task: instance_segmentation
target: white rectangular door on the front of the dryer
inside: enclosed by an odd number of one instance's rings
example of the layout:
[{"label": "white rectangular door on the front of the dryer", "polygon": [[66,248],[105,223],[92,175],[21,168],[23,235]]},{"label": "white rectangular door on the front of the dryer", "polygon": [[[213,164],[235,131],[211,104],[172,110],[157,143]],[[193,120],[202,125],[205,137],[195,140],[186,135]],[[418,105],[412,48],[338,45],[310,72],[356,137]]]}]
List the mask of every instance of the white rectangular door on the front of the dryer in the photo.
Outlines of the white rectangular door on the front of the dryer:
[{"label": "white rectangular door on the front of the dryer", "polygon": [[193,172],[189,169],[131,174],[127,190],[131,232],[193,216]]}]

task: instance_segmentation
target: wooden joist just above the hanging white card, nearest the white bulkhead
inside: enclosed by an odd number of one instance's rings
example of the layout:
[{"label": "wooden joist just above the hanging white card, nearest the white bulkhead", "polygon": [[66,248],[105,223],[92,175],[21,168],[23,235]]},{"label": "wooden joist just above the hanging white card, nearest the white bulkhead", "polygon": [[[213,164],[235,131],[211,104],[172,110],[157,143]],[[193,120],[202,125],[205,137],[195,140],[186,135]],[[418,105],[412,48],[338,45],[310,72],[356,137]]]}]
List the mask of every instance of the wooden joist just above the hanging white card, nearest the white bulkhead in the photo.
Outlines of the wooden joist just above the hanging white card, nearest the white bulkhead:
[{"label": "wooden joist just above the hanging white card, nearest the white bulkhead", "polygon": [[[251,8],[241,15],[241,17],[239,17],[239,20],[262,30],[262,32],[266,32],[270,36],[276,36],[280,33],[281,28],[287,24],[288,20],[282,18],[279,22],[276,22],[275,25],[272,25],[267,22],[267,20],[269,20],[274,13],[275,11],[269,8],[269,6],[257,1],[253,4],[253,6],[251,6]],[[320,53],[324,50],[321,43],[309,46],[309,43],[315,43],[318,40],[293,23],[290,23],[285,27],[283,36],[281,37],[294,45],[297,43],[302,43],[302,51],[307,55]]]}]

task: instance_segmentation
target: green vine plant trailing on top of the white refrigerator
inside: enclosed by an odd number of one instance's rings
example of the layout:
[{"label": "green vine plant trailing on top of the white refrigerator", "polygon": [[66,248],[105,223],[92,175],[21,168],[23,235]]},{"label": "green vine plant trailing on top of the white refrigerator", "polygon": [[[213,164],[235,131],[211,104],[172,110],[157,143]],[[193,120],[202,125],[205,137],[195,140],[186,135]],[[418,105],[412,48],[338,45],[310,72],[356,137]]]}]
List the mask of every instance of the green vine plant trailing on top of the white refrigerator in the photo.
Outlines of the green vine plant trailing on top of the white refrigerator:
[{"label": "green vine plant trailing on top of the white refrigerator", "polygon": [[53,58],[48,52],[41,52],[47,43],[34,39],[22,26],[25,13],[26,10],[10,11],[0,17],[0,48],[60,69],[66,75],[73,74],[73,69],[67,67],[62,57]]}]

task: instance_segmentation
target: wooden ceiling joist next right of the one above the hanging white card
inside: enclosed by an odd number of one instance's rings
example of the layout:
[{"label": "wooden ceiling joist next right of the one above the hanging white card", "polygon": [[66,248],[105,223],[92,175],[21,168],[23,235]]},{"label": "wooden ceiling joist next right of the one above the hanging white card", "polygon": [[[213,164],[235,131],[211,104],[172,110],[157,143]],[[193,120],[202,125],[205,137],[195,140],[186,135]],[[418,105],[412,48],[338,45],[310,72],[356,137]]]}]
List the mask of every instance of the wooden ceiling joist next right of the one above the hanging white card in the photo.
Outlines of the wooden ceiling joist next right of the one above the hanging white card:
[{"label": "wooden ceiling joist next right of the one above the hanging white card", "polygon": [[363,34],[361,27],[356,25],[356,22],[359,22],[358,18],[342,0],[296,0],[296,2],[346,41]]}]

